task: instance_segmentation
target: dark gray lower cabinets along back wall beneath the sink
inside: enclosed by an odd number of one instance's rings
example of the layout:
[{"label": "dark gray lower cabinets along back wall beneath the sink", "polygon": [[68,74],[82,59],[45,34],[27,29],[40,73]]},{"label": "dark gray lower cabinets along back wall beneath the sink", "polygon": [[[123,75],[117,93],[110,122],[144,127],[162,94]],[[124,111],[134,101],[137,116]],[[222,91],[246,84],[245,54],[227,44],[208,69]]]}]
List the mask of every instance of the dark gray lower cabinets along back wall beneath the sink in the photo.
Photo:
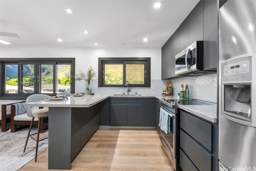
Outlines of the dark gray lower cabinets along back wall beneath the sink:
[{"label": "dark gray lower cabinets along back wall beneath the sink", "polygon": [[155,126],[155,98],[111,97],[110,126]]}]

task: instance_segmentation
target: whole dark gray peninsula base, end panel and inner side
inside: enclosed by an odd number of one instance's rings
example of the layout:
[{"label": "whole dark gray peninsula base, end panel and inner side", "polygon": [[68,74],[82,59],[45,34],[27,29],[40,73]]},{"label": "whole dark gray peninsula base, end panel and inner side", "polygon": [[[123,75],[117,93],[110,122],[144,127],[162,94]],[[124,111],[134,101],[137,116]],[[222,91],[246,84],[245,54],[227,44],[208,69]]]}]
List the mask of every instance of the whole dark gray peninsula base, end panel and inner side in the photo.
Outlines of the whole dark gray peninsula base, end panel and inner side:
[{"label": "whole dark gray peninsula base, end panel and inner side", "polygon": [[49,107],[48,169],[70,170],[99,125],[98,104],[88,108]]}]

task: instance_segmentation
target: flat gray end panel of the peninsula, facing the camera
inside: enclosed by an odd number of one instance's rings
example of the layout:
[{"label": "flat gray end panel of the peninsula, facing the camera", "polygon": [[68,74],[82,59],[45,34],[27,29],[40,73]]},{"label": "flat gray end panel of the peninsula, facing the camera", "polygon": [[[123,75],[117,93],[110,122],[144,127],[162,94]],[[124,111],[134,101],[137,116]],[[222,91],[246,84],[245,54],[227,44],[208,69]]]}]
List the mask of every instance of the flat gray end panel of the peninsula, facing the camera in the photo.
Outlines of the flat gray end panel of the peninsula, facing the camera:
[{"label": "flat gray end panel of the peninsula, facing the camera", "polygon": [[71,169],[70,107],[49,107],[48,169]]}]

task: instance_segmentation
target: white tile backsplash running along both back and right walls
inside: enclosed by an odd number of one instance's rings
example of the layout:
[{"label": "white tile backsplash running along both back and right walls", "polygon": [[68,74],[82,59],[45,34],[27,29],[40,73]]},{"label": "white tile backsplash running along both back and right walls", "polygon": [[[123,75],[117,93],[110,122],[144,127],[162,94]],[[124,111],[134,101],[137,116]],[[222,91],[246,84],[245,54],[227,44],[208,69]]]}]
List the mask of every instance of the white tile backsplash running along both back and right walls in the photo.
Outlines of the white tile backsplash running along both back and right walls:
[{"label": "white tile backsplash running along both back and right walls", "polygon": [[[185,85],[188,84],[190,98],[217,103],[217,74],[184,77],[174,80],[151,80],[151,87],[131,87],[130,94],[137,92],[142,95],[160,95],[167,82],[172,82],[173,84],[173,95],[177,95],[177,93],[182,90],[181,84],[184,84],[184,88]],[[86,85],[87,83],[83,81],[76,82],[76,92],[84,91]],[[127,93],[126,87],[98,87],[97,79],[93,79],[90,85],[92,87],[92,93],[108,93],[113,95]],[[156,89],[152,89],[153,86],[156,86]]]}]

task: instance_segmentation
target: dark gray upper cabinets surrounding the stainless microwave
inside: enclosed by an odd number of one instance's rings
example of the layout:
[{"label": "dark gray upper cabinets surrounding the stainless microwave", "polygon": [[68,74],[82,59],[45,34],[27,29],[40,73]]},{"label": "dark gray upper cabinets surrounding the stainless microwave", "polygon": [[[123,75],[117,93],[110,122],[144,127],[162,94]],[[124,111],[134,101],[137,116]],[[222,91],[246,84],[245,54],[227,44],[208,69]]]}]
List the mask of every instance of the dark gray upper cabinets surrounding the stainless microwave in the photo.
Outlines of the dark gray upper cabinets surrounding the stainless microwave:
[{"label": "dark gray upper cabinets surrounding the stainless microwave", "polygon": [[[196,41],[204,41],[204,68],[217,68],[217,0],[200,0],[162,47],[162,79],[174,79],[175,55]],[[171,47],[171,48],[170,48]]]}]

